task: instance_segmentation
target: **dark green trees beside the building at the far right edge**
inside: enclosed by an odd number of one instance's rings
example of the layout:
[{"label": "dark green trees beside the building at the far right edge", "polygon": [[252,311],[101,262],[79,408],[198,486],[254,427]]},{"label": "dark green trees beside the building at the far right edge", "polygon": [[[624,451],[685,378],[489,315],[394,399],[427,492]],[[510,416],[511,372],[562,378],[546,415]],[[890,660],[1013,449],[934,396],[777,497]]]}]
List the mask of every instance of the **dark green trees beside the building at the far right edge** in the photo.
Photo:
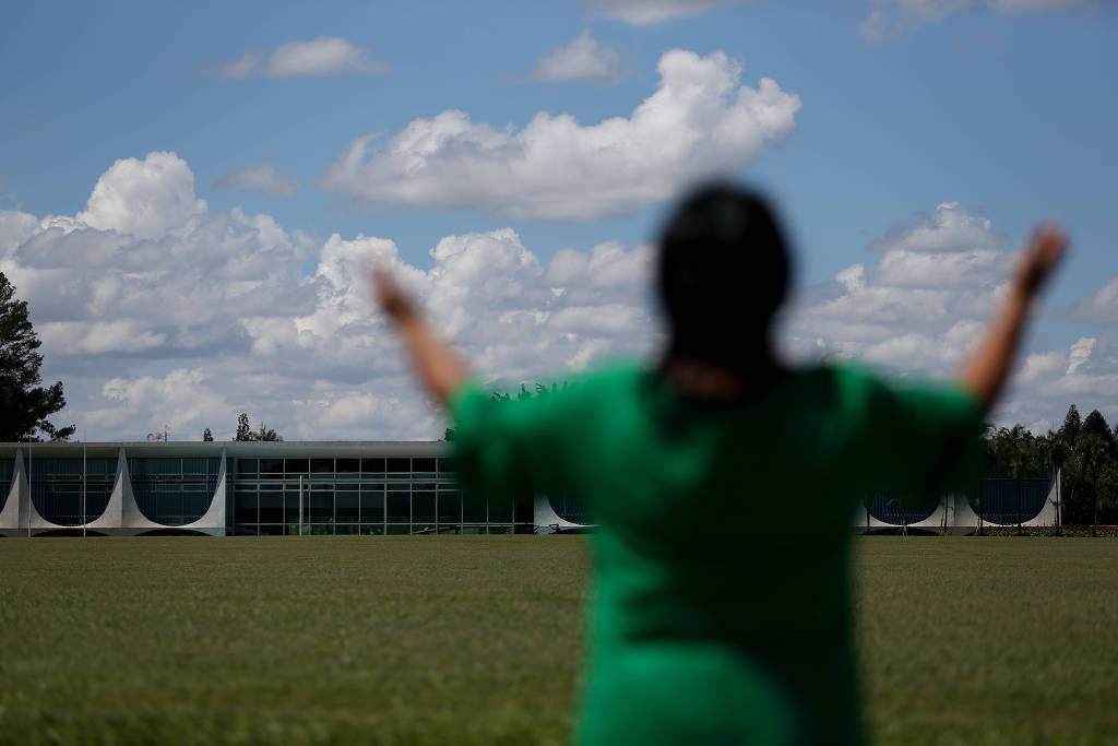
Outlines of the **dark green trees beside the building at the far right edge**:
[{"label": "dark green trees beside the building at the far right edge", "polygon": [[1073,404],[1060,429],[1043,435],[989,427],[984,445],[987,475],[1031,479],[1059,469],[1064,523],[1118,523],[1118,441],[1098,409],[1081,418]]}]

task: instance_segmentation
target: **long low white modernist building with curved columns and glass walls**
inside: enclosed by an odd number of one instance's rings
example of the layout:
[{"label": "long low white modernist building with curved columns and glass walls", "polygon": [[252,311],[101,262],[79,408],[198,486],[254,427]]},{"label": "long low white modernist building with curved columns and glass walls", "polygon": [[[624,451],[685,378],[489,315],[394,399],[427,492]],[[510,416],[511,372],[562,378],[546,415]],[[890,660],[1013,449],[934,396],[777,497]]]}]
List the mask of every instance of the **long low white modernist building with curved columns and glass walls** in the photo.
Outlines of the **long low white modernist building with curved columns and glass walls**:
[{"label": "long low white modernist building with curved columns and glass walls", "polygon": [[[1060,522],[1060,474],[985,480],[930,512],[882,492],[855,530],[970,533]],[[552,533],[590,528],[577,498],[463,491],[434,442],[0,443],[0,536]],[[746,498],[748,499],[748,498]],[[980,504],[979,516],[973,504]]]}]

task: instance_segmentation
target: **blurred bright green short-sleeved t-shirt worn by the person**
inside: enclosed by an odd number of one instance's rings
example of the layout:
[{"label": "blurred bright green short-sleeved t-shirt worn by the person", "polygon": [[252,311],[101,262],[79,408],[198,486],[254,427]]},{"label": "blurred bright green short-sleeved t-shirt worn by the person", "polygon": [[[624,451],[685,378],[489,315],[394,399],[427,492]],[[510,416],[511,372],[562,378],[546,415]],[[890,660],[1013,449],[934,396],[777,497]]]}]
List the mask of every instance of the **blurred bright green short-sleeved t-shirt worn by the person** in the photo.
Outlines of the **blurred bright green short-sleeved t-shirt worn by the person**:
[{"label": "blurred bright green short-sleeved t-shirt worn by the person", "polygon": [[593,511],[581,744],[859,743],[856,501],[938,499],[982,429],[958,389],[852,367],[710,403],[618,366],[523,402],[465,386],[451,409],[464,487]]}]

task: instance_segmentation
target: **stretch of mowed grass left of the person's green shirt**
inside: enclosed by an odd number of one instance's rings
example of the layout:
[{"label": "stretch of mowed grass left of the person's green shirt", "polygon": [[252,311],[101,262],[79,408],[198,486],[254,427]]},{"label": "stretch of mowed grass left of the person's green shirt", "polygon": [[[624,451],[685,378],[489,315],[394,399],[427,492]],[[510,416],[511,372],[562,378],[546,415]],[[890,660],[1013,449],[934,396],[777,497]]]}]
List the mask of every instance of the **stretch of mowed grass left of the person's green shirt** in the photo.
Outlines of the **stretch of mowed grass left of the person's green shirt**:
[{"label": "stretch of mowed grass left of the person's green shirt", "polygon": [[582,549],[0,539],[0,740],[562,744]]}]

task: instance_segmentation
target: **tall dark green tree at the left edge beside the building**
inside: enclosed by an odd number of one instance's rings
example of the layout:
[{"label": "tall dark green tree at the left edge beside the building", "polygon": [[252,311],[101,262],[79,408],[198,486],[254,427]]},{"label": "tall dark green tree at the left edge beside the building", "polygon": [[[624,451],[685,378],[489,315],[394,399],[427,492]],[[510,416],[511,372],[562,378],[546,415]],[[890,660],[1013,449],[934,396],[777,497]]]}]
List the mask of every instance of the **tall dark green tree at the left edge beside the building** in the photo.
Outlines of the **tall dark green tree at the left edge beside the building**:
[{"label": "tall dark green tree at the left edge beside the building", "polygon": [[47,417],[66,406],[63,383],[44,388],[42,344],[27,315],[27,301],[0,272],[0,442],[65,441],[75,425],[57,427]]}]

